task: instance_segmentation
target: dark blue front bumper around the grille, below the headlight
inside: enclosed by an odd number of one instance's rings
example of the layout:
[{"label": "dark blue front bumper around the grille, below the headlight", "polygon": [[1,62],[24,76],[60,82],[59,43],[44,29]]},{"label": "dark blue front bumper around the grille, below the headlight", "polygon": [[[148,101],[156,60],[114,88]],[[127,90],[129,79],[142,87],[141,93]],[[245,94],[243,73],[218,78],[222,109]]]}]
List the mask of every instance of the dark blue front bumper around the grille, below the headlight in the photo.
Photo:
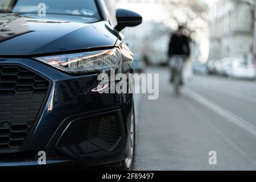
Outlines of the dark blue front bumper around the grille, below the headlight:
[{"label": "dark blue front bumper around the grille, below the headlight", "polygon": [[92,92],[97,73],[71,76],[27,58],[0,58],[1,64],[21,65],[51,84],[27,142],[19,150],[0,150],[0,167],[37,166],[39,151],[46,151],[48,164],[96,166],[127,158],[132,94]]}]

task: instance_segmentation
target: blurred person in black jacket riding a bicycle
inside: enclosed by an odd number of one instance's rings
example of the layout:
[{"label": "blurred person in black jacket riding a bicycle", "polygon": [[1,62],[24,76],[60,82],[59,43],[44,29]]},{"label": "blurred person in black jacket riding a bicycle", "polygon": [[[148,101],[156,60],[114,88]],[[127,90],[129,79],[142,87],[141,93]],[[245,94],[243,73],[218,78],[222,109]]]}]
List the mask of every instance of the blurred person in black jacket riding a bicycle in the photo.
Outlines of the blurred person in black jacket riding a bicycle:
[{"label": "blurred person in black jacket riding a bicycle", "polygon": [[[187,58],[190,56],[190,47],[189,47],[189,40],[190,38],[188,36],[184,35],[184,27],[179,26],[176,33],[171,36],[171,40],[169,43],[169,49],[168,49],[168,57],[172,63],[172,61],[175,61],[176,56],[182,56],[183,57],[183,63],[187,60]],[[172,64],[171,64],[172,65]],[[174,82],[174,74],[173,73],[174,67],[171,67],[171,82]],[[183,85],[183,70],[181,68],[181,79],[180,84]]]}]

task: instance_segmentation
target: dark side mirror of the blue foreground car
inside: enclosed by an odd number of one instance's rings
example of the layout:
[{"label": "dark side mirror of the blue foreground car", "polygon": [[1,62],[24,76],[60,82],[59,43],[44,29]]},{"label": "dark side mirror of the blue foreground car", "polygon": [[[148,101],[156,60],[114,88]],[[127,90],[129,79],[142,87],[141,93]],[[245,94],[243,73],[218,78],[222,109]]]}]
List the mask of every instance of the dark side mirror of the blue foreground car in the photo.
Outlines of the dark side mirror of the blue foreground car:
[{"label": "dark side mirror of the blue foreground car", "polygon": [[121,31],[125,27],[135,27],[142,23],[142,16],[134,11],[117,9],[117,26],[115,30]]}]

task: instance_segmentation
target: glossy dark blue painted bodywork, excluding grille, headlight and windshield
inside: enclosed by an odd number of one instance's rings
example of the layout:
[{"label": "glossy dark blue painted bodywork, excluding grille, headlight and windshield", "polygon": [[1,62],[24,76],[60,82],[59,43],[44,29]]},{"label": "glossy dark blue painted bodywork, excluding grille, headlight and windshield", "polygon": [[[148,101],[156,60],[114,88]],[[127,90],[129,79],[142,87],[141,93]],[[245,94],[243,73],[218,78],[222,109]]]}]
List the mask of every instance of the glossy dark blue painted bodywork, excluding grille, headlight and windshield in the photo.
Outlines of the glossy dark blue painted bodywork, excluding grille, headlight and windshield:
[{"label": "glossy dark blue painted bodywork, excluding grille, headlight and windshield", "polygon": [[[99,1],[100,2],[100,1]],[[14,15],[1,14],[3,19]],[[117,72],[133,73],[133,56],[123,42],[122,36],[110,25],[107,19],[88,23],[88,20],[75,16],[47,15],[38,18],[32,14],[16,16],[15,30],[24,30],[10,38],[0,40],[0,64],[19,64],[47,77],[52,86],[43,108],[42,115],[27,139],[24,148],[18,152],[37,154],[41,150],[54,150],[57,158],[48,159],[48,163],[82,162],[88,166],[113,163],[125,160],[129,152],[129,129],[133,94],[99,94],[92,92],[97,87],[100,72],[86,75],[69,75],[34,59],[38,55],[58,55],[119,47],[122,52],[122,64]],[[106,112],[121,111],[126,126],[125,140],[115,151],[106,151],[100,147],[88,154],[77,156],[72,152],[60,151],[57,140],[70,122],[68,118],[82,116],[93,117]],[[72,120],[72,119],[71,119]],[[16,155],[10,152],[10,155]],[[6,152],[0,151],[0,156]],[[63,159],[62,157],[65,156]],[[86,161],[84,161],[86,160]],[[33,166],[34,159],[26,162],[1,161],[0,166]]]}]

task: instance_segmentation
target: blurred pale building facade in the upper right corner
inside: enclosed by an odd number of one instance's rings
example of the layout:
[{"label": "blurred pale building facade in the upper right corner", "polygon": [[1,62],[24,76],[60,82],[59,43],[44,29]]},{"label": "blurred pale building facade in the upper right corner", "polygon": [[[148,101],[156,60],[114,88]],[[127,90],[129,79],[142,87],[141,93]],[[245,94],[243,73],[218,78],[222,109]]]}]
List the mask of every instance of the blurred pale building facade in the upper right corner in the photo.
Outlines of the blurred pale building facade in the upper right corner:
[{"label": "blurred pale building facade in the upper right corner", "polygon": [[253,59],[253,0],[219,0],[210,9],[209,60]]}]

